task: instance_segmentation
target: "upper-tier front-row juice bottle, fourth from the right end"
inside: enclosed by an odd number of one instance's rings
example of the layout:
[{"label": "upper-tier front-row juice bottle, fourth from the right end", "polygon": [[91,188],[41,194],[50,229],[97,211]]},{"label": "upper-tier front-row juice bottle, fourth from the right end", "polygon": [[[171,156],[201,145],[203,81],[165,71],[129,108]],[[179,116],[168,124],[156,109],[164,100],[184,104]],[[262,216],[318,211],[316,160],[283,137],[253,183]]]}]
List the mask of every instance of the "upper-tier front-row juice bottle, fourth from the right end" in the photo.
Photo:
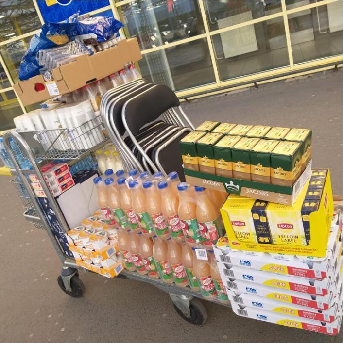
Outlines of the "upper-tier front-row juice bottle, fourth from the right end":
[{"label": "upper-tier front-row juice bottle, fourth from the right end", "polygon": [[143,189],[146,198],[146,210],[154,223],[155,233],[161,239],[170,237],[167,222],[161,211],[161,196],[157,192],[153,182],[148,180],[143,182]]}]

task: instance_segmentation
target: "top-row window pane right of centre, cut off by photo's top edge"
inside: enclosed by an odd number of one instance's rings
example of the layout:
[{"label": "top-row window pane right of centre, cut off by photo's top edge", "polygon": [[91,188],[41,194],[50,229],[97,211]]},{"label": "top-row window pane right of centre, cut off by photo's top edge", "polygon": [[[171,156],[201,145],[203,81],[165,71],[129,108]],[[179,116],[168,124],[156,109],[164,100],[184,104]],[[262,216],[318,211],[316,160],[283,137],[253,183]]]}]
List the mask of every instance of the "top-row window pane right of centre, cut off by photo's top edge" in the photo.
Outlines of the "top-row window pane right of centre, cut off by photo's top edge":
[{"label": "top-row window pane right of centre, cut off by photo's top edge", "polygon": [[281,12],[281,1],[204,1],[211,31]]}]

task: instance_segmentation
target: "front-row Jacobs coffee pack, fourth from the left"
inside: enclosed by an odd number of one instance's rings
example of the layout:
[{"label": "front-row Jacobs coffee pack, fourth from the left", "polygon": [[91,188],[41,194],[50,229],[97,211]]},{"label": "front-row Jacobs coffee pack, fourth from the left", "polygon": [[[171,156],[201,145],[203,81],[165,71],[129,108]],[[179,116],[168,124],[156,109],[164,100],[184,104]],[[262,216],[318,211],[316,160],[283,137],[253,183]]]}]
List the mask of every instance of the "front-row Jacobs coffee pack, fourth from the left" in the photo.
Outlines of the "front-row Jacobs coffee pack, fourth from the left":
[{"label": "front-row Jacobs coffee pack, fourth from the left", "polygon": [[259,138],[242,137],[232,148],[233,177],[242,180],[251,180],[250,150],[259,142]]}]

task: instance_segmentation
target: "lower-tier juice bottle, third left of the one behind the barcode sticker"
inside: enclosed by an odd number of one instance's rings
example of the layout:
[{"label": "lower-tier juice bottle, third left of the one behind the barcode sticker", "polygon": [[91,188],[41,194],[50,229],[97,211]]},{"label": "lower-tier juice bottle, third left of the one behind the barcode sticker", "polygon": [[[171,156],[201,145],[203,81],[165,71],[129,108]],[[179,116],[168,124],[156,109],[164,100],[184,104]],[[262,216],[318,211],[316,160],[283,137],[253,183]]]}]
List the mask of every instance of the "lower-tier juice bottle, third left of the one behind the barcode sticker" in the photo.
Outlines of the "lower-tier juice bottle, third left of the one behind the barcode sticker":
[{"label": "lower-tier juice bottle, third left of the one behind the barcode sticker", "polygon": [[156,262],[157,270],[161,281],[172,283],[172,268],[167,260],[167,243],[154,235],[153,256]]}]

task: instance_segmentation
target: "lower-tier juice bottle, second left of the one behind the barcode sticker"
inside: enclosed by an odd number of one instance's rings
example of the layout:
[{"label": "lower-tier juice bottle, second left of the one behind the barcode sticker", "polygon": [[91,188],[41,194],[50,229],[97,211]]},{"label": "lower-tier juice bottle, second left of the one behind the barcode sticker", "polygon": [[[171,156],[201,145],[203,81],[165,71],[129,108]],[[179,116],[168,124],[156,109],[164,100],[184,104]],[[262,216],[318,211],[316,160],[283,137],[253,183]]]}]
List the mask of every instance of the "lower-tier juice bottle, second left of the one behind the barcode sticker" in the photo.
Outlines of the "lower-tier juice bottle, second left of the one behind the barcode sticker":
[{"label": "lower-tier juice bottle, second left of the one behind the barcode sticker", "polygon": [[167,260],[172,268],[172,275],[176,286],[188,286],[188,279],[185,268],[182,264],[182,247],[181,244],[173,241],[171,238],[167,241],[168,252]]}]

